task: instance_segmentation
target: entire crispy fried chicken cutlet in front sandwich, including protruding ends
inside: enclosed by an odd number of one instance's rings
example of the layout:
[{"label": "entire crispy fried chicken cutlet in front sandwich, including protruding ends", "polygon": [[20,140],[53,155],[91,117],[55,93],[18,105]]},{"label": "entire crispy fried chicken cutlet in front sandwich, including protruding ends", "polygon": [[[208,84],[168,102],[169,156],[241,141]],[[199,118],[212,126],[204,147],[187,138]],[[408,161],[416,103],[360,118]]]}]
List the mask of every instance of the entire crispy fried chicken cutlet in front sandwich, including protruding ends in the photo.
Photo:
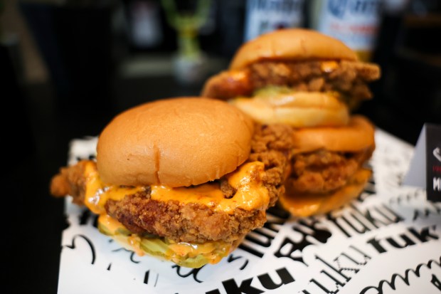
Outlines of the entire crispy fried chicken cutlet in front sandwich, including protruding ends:
[{"label": "entire crispy fried chicken cutlet in front sandwich, including protruding ends", "polygon": [[[284,191],[282,182],[287,173],[292,130],[285,126],[264,125],[256,127],[256,130],[248,162],[259,160],[265,164],[262,181],[270,192],[270,206],[274,206],[277,196]],[[60,173],[53,178],[51,194],[70,195],[75,204],[83,205],[87,182],[85,171],[90,167],[96,171],[95,161],[83,160],[71,167],[60,169]],[[221,188],[225,199],[230,198],[235,192],[225,177],[212,184]],[[132,233],[172,236],[169,238],[176,242],[233,241],[244,233],[262,226],[266,221],[261,210],[235,209],[230,214],[225,211],[213,211],[211,207],[201,203],[183,204],[175,200],[154,200],[151,199],[150,192],[147,186],[142,191],[124,196],[121,200],[109,199],[105,204],[105,210]]]}]

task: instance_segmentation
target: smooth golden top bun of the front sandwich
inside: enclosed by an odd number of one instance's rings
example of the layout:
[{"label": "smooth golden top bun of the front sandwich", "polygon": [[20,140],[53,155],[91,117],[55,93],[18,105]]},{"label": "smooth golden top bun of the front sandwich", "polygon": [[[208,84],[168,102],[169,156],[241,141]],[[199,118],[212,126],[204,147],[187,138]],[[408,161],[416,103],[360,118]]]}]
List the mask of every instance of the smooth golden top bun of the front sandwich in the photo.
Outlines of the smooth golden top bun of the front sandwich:
[{"label": "smooth golden top bun of the front sandwich", "polygon": [[105,127],[97,169],[108,184],[202,184],[245,162],[252,135],[252,120],[221,100],[156,100],[122,112]]}]

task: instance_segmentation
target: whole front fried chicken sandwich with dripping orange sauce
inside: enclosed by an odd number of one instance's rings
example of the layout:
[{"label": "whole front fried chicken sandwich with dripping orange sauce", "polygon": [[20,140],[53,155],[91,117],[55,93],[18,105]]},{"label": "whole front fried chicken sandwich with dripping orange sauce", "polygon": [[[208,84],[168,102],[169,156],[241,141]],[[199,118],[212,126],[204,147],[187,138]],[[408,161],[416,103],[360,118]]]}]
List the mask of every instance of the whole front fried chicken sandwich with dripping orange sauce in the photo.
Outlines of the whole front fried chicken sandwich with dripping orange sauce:
[{"label": "whole front fried chicken sandwich with dripping orange sauce", "polygon": [[261,134],[223,101],[145,103],[102,130],[96,160],[60,168],[51,194],[87,206],[102,233],[139,255],[218,263],[265,223],[283,189],[285,157],[267,152]]}]

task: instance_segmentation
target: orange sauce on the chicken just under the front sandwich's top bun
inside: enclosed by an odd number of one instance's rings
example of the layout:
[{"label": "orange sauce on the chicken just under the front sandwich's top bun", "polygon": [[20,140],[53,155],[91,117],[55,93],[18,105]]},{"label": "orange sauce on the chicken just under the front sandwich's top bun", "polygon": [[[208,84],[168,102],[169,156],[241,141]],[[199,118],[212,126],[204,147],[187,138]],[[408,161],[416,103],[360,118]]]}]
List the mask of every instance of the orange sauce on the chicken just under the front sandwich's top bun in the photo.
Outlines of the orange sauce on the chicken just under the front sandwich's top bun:
[{"label": "orange sauce on the chicken just under the front sandwich's top bun", "polygon": [[[235,172],[228,174],[228,184],[236,192],[230,198],[223,196],[218,183],[201,184],[196,187],[170,188],[152,185],[152,199],[157,201],[179,201],[180,204],[205,204],[213,211],[232,214],[235,209],[266,209],[270,203],[267,188],[263,185],[262,162],[243,164]],[[145,191],[145,187],[109,186],[101,182],[95,164],[87,164],[85,169],[85,205],[95,214],[105,214],[105,203],[109,199],[121,200],[126,195]]]}]

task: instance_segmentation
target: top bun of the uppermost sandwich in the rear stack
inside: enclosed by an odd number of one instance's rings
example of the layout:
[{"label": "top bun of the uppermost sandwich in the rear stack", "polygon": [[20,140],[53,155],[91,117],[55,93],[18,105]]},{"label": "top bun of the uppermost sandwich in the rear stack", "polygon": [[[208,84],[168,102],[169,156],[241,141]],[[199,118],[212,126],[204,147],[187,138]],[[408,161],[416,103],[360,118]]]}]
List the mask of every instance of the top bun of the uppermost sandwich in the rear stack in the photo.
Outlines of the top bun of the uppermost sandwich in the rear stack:
[{"label": "top bun of the uppermost sandwich in the rear stack", "polygon": [[356,53],[336,38],[307,28],[284,28],[243,43],[230,70],[264,60],[337,59],[357,61]]}]

